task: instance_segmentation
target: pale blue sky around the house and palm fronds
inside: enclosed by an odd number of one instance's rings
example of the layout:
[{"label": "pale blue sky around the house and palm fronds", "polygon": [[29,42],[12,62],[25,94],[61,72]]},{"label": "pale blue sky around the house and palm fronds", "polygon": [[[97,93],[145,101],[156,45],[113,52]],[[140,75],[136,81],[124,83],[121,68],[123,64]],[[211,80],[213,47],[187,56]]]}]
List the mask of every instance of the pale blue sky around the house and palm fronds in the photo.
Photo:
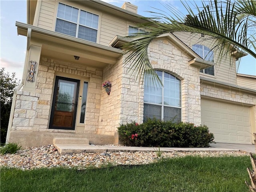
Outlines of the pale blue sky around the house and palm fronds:
[{"label": "pale blue sky around the house and palm fronds", "polygon": [[[118,7],[125,2],[125,0],[104,1]],[[142,16],[152,16],[146,11],[163,10],[162,4],[171,4],[186,14],[179,0],[129,0],[128,2],[138,6],[138,14]],[[200,1],[195,2],[200,3]],[[22,79],[26,37],[18,36],[16,21],[26,23],[26,0],[0,0],[0,67],[6,68],[6,72],[15,72],[16,77]],[[252,56],[242,58],[238,73],[256,75],[256,59]]]}]

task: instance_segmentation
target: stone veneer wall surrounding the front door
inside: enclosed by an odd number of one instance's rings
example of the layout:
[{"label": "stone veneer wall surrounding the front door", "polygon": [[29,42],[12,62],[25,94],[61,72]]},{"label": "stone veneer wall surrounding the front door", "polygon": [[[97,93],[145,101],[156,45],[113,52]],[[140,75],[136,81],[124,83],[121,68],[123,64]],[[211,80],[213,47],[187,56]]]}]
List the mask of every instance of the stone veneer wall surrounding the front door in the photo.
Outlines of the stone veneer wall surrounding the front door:
[{"label": "stone veneer wall surrounding the front door", "polygon": [[80,133],[96,134],[100,114],[102,71],[50,58],[41,58],[35,92],[18,91],[11,130],[33,132],[76,132],[49,129],[54,73],[74,74],[89,78],[86,124]]}]

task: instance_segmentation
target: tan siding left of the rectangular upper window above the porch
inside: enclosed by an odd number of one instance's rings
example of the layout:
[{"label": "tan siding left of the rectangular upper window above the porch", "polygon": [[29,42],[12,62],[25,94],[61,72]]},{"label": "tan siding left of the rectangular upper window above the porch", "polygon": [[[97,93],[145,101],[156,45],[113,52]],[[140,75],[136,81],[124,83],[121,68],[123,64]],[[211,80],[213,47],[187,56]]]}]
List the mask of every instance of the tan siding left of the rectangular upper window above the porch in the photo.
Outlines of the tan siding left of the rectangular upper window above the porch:
[{"label": "tan siding left of the rectangular upper window above the porch", "polygon": [[52,24],[54,22],[54,9],[55,1],[42,1],[38,18],[38,27],[52,30]]}]

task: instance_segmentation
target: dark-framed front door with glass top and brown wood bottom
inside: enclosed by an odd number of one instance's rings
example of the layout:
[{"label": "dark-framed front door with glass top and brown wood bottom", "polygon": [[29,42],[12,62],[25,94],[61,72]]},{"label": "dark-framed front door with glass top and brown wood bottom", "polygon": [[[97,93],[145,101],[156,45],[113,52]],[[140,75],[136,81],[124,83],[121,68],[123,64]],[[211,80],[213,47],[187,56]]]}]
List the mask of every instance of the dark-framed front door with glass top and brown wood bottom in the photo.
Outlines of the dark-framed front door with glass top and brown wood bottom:
[{"label": "dark-framed front door with glass top and brown wood bottom", "polygon": [[80,80],[56,76],[49,128],[75,129],[79,84]]}]

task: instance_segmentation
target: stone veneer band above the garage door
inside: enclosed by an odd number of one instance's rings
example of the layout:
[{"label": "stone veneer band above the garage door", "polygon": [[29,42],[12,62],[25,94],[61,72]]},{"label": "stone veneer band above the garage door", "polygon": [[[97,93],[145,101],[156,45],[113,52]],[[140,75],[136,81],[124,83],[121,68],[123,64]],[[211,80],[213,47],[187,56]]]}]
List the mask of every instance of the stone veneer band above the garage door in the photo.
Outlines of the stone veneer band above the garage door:
[{"label": "stone veneer band above the garage door", "polygon": [[219,100],[226,100],[231,102],[239,102],[242,104],[249,104],[254,106],[254,120],[256,124],[256,95],[243,92],[243,90],[233,90],[222,88],[220,86],[213,86],[202,83],[200,87],[201,96],[210,98],[217,98]]}]

